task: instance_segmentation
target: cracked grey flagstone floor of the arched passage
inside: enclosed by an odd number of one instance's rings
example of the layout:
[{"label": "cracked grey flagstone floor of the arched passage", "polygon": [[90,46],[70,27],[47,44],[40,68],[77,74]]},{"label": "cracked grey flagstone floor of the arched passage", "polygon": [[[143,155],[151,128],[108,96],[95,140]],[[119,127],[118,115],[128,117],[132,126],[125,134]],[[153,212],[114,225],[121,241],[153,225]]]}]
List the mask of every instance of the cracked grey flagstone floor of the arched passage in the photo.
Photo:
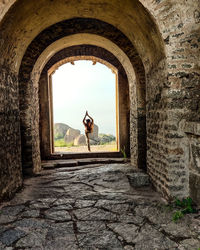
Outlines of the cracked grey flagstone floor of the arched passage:
[{"label": "cracked grey flagstone floor of the arched passage", "polygon": [[129,164],[48,169],[0,206],[0,249],[200,248],[200,213],[174,223],[150,186],[133,188]]}]

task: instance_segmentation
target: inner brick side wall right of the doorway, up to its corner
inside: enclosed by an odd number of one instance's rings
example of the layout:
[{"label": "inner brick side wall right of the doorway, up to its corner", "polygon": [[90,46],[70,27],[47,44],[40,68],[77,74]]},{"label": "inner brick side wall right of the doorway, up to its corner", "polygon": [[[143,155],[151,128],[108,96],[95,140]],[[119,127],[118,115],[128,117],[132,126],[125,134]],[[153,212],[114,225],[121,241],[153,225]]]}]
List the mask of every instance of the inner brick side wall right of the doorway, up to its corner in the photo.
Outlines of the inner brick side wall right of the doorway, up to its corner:
[{"label": "inner brick side wall right of the doorway, up to its corner", "polygon": [[[157,84],[155,85],[155,83]],[[170,159],[168,147],[170,139],[165,138],[168,120],[165,110],[162,91],[166,82],[165,61],[160,62],[156,70],[152,70],[147,76],[147,171],[153,184],[165,196],[169,191],[169,165]]]}]

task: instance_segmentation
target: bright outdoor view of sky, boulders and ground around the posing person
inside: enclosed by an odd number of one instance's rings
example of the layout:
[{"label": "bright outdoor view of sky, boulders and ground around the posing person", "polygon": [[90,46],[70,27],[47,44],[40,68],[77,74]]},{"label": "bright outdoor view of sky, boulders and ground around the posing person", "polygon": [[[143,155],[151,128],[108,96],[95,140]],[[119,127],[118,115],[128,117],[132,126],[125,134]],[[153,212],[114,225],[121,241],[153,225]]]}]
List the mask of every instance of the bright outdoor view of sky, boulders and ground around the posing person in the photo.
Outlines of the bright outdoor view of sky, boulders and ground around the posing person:
[{"label": "bright outdoor view of sky, boulders and ground around the posing person", "polygon": [[54,152],[88,152],[85,112],[94,119],[91,152],[117,151],[116,75],[107,66],[75,61],[52,75]]}]

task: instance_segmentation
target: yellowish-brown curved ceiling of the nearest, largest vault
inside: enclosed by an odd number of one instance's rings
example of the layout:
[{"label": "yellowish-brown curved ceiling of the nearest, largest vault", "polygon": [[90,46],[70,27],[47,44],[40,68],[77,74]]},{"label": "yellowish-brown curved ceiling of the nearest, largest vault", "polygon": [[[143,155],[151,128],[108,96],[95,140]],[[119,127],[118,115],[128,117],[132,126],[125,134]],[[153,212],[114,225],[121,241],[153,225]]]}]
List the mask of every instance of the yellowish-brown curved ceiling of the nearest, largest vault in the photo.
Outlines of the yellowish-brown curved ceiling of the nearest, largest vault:
[{"label": "yellowish-brown curved ceiling of the nearest, largest vault", "polygon": [[[97,0],[95,3],[88,0],[38,0],[37,4],[35,1],[20,0],[10,8],[0,26],[2,37],[9,34],[9,43],[1,41],[2,58],[6,58],[2,63],[18,71],[20,61],[34,38],[52,25],[59,32],[58,23],[70,23],[72,17],[98,18],[117,27],[148,67],[163,57],[161,36],[150,14],[138,0]],[[88,22],[87,27],[90,25],[92,23]],[[72,32],[73,27],[68,28],[68,33]]]}]

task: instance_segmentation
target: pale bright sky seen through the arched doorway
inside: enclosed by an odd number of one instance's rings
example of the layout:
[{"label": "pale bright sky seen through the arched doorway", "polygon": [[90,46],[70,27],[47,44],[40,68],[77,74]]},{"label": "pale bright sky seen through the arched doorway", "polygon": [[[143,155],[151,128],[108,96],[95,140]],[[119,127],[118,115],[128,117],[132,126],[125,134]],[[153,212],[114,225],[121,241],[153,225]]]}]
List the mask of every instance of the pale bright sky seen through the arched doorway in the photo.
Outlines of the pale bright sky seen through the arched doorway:
[{"label": "pale bright sky seen through the arched doorway", "polygon": [[116,136],[115,74],[92,61],[66,63],[52,75],[54,123],[65,123],[84,133],[86,110],[99,133]]}]

